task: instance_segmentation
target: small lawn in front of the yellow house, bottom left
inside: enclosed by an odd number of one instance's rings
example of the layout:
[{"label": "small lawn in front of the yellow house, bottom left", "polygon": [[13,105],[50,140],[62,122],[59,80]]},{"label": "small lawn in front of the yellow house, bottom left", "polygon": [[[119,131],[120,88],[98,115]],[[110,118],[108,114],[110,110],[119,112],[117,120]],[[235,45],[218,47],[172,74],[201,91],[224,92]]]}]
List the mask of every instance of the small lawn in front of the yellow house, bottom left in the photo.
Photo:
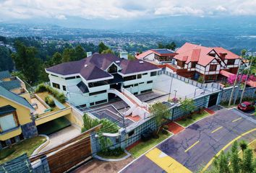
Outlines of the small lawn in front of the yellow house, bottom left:
[{"label": "small lawn in front of the yellow house, bottom left", "polygon": [[[12,148],[4,148],[0,150],[0,158],[2,156],[7,156],[4,159],[0,159],[0,164],[3,164],[6,161],[10,161],[17,156],[21,156],[22,154],[27,153],[27,156],[33,154],[38,146],[46,141],[46,138],[43,136],[36,136],[34,138],[25,139],[20,143],[16,143],[12,146]],[[8,156],[9,155],[9,156]]]}]

